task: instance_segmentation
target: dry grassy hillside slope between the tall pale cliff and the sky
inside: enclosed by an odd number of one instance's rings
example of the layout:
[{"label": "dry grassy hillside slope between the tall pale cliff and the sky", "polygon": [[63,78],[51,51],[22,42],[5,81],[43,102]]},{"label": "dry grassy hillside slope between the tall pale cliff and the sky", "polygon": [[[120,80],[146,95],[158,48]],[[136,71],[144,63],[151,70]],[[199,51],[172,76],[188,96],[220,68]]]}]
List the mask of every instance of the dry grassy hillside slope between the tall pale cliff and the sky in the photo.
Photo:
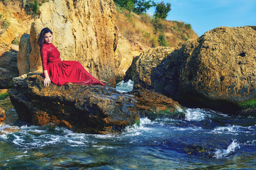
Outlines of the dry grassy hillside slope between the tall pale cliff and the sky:
[{"label": "dry grassy hillside slope between the tall pale cliff and the sky", "polygon": [[116,7],[118,29],[130,42],[140,42],[148,47],[178,47],[186,40],[197,38],[189,23],[153,18],[146,13],[130,13]]}]

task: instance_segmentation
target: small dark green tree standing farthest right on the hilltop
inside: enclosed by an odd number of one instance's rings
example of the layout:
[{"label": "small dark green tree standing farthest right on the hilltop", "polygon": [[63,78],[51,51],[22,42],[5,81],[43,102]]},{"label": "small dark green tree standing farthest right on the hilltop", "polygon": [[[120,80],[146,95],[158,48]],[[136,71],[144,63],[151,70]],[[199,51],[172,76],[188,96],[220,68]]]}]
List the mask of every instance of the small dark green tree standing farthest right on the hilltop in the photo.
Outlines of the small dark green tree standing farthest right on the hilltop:
[{"label": "small dark green tree standing farthest right on the hilltop", "polygon": [[165,19],[168,16],[169,11],[171,11],[171,4],[165,4],[164,1],[161,1],[155,8],[154,16],[155,18]]}]

